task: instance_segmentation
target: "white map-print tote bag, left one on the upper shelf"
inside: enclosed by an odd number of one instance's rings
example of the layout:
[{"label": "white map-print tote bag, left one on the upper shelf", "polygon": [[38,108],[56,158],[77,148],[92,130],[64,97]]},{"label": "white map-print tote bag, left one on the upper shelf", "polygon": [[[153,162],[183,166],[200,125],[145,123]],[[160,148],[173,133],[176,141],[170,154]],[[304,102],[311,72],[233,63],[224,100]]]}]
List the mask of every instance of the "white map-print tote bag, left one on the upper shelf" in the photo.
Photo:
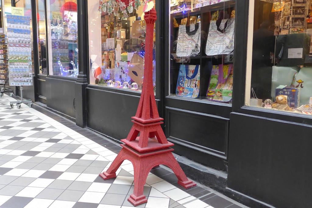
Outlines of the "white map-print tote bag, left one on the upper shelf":
[{"label": "white map-print tote bag, left one on the upper shelf", "polygon": [[180,25],[177,40],[177,56],[197,56],[201,44],[201,23]]}]

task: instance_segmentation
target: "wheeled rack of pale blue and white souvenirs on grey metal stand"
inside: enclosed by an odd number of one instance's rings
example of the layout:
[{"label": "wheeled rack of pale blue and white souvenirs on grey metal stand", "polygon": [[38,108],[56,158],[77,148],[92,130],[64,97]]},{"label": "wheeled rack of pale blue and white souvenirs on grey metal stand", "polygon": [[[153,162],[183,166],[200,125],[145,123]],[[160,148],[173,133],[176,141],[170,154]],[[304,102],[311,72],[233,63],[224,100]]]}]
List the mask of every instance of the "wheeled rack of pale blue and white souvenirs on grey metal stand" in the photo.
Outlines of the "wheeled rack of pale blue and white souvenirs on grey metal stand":
[{"label": "wheeled rack of pale blue and white souvenirs on grey metal stand", "polygon": [[32,101],[23,100],[23,86],[33,85],[31,19],[25,16],[7,15],[7,51],[9,62],[9,85],[19,86],[21,100],[10,102],[17,108],[22,103],[32,106]]}]

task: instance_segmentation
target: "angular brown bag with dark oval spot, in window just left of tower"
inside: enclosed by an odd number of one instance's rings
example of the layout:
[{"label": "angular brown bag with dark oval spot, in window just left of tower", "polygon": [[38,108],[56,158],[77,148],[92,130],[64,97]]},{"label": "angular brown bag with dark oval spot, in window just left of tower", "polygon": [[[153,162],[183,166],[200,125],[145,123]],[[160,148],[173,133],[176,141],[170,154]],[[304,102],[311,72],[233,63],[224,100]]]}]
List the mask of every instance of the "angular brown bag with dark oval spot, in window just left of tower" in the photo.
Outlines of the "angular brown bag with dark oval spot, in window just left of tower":
[{"label": "angular brown bag with dark oval spot, in window just left of tower", "polygon": [[135,53],[131,58],[128,69],[128,76],[141,87],[144,77],[144,58]]}]

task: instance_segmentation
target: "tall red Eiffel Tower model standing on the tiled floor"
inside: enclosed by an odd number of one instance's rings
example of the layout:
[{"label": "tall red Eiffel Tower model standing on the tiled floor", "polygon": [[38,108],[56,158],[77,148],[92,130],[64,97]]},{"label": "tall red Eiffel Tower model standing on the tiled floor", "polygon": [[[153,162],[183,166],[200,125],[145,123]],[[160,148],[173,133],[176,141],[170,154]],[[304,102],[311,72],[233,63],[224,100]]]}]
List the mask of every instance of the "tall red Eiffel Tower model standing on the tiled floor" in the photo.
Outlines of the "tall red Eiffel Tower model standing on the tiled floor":
[{"label": "tall red Eiffel Tower model standing on the tiled floor", "polygon": [[[100,174],[104,180],[116,177],[116,171],[124,160],[134,166],[134,192],[128,201],[134,206],[147,202],[143,194],[144,184],[151,169],[158,165],[170,167],[178,178],[178,184],[186,189],[196,186],[185,176],[170,148],[173,143],[167,141],[161,128],[162,118],[159,117],[153,90],[153,36],[154,23],[157,19],[156,10],[145,12],[146,46],[144,85],[137,113],[132,119],[133,127],[126,139],[122,139],[122,150],[106,172]],[[140,135],[139,135],[140,134]],[[139,137],[138,137],[139,135]]]}]

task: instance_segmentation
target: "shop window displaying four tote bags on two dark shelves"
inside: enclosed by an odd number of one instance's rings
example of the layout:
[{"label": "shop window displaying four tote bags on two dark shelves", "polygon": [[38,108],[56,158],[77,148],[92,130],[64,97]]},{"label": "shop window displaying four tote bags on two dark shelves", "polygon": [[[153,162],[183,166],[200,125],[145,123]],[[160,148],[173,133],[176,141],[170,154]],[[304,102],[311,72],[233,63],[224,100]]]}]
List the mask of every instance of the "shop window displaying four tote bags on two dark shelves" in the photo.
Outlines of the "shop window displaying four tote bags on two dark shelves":
[{"label": "shop window displaying four tote bags on two dark shelves", "polygon": [[169,94],[231,103],[235,1],[169,0],[169,3]]}]

